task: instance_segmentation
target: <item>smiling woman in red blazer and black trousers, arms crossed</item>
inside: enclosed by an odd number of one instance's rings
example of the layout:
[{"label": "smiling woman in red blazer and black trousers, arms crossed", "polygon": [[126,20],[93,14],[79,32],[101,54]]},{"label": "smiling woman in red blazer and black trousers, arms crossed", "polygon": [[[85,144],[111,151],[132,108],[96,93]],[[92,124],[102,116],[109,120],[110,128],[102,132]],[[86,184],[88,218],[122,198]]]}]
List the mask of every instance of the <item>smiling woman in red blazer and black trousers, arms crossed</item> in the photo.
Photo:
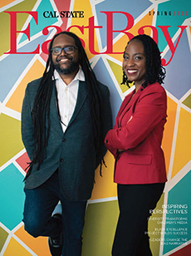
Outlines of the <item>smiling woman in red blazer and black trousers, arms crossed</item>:
[{"label": "smiling woman in red blazer and black trousers, arms crossed", "polygon": [[160,85],[165,71],[154,40],[139,35],[125,47],[123,83],[135,82],[120,106],[105,145],[115,157],[120,215],[113,256],[150,256],[148,219],[164,190],[166,170],[161,148],[167,97]]}]

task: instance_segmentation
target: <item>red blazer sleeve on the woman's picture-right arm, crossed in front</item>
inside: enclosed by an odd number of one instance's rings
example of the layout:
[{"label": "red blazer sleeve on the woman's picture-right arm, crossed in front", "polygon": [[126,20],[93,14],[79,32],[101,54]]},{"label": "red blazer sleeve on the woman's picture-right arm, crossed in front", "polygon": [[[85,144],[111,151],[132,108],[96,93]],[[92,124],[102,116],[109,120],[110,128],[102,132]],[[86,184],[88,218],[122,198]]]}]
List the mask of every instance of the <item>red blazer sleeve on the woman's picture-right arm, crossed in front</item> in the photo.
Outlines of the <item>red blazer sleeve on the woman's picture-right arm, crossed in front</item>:
[{"label": "red blazer sleeve on the woman's picture-right arm, crossed in front", "polygon": [[165,123],[166,101],[163,88],[160,91],[144,92],[136,103],[132,119],[126,126],[109,130],[105,137],[106,147],[114,151],[129,150],[139,145],[160,121],[164,119]]}]

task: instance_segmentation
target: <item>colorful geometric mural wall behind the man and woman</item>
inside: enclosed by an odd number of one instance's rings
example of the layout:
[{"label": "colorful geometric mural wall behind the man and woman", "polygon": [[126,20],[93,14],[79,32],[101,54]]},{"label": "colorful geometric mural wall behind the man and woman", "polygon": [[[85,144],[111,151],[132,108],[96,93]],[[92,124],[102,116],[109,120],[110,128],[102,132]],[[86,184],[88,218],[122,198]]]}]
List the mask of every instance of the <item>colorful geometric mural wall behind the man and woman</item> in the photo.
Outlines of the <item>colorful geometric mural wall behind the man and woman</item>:
[{"label": "colorful geometric mural wall behind the man and woman", "polygon": [[[190,0],[2,0],[0,19],[0,255],[50,255],[47,238],[33,239],[23,229],[22,180],[28,157],[21,139],[21,108],[27,83],[42,76],[47,42],[66,29],[81,37],[98,80],[110,88],[114,121],[132,90],[120,85],[129,37],[144,32],[158,42],[167,71],[162,146],[168,182],[149,220],[150,244],[154,256],[191,255]],[[96,170],[86,211],[83,256],[109,256],[115,234],[118,204],[109,152],[105,162],[103,177]]]}]

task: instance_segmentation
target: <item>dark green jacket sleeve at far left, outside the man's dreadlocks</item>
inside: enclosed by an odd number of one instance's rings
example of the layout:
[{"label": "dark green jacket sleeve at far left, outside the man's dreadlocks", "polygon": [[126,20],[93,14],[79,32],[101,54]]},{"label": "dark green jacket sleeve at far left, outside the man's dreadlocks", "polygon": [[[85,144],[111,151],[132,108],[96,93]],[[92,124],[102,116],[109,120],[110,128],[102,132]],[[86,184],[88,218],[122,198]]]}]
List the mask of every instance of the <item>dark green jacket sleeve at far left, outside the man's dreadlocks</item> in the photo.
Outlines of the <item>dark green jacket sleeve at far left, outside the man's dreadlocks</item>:
[{"label": "dark green jacket sleeve at far left, outside the man's dreadlocks", "polygon": [[29,85],[25,91],[25,96],[22,102],[22,142],[27,150],[27,155],[32,160],[33,152],[33,125],[32,125],[32,104],[29,93]]}]

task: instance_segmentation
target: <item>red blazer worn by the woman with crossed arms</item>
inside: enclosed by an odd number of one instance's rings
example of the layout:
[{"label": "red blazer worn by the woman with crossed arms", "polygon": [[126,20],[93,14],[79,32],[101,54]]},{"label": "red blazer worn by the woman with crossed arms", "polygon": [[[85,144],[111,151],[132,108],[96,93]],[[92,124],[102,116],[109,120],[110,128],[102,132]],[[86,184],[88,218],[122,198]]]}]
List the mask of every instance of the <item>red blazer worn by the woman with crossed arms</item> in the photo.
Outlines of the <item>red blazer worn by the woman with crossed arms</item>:
[{"label": "red blazer worn by the woman with crossed arms", "polygon": [[[120,106],[105,146],[115,156],[114,181],[119,184],[163,183],[166,179],[161,149],[167,97],[158,82],[132,91]],[[132,97],[133,96],[133,97]],[[124,150],[118,153],[118,150]]]}]

